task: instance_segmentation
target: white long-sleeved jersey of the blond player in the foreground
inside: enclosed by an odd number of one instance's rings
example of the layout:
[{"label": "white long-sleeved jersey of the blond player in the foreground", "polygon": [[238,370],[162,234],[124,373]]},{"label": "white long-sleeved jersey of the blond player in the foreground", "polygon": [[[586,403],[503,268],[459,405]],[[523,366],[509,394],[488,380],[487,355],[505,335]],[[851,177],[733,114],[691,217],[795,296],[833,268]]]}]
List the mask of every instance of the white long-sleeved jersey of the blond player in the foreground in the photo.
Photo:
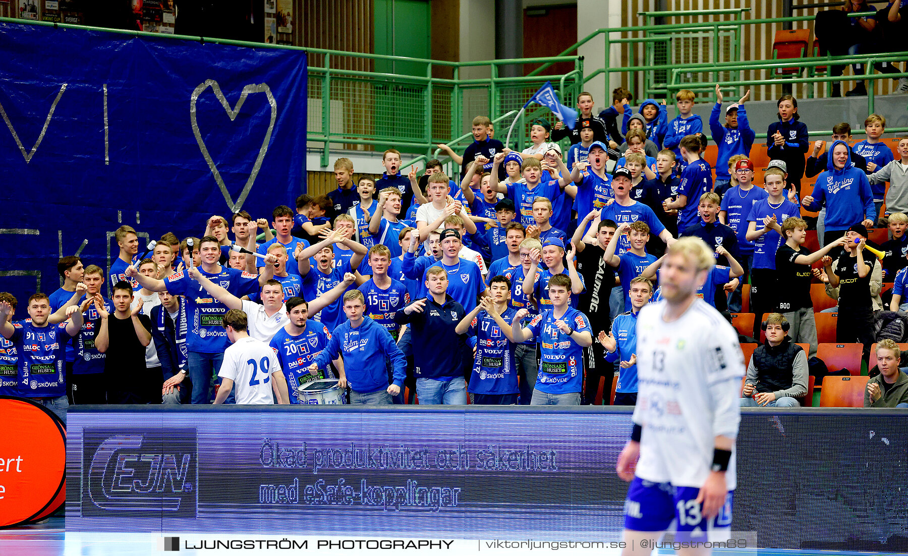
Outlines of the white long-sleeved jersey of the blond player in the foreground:
[{"label": "white long-sleeved jersey of the blond player in the foreground", "polygon": [[[643,427],[637,476],[699,488],[713,463],[715,437],[735,438],[744,355],[735,328],[703,299],[666,322],[666,301],[637,317],[637,407]],[[725,473],[735,489],[735,454]]]}]

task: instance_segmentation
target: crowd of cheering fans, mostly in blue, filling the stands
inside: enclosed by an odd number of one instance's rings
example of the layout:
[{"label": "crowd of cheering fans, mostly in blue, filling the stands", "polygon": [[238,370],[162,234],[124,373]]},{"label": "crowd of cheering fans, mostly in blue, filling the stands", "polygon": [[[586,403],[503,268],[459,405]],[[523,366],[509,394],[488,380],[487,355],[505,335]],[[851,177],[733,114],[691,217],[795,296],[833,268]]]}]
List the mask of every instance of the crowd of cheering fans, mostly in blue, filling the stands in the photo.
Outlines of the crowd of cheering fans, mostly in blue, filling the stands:
[{"label": "crowd of cheering fans, mostly in blue, filling the stands", "polygon": [[[354,404],[400,404],[409,393],[419,404],[578,405],[617,376],[615,404],[633,405],[637,313],[660,298],[666,246],[693,236],[716,262],[697,296],[740,311],[749,283],[753,337],[765,331],[741,404],[798,405],[817,346],[814,276],[838,299],[836,341],[864,344],[865,356],[883,280],[894,281],[888,308],[908,307],[908,138],[893,156],[885,118],[870,114],[864,141],[852,144],[842,123],[828,148],[811,145],[785,94],[755,183],[750,93],[727,105],[716,93],[715,169],[694,93],[677,93],[669,121],[665,102],[635,112],[618,88],[599,115],[581,93],[569,129],[532,122],[522,151],[475,118],[462,155],[441,145],[461,164],[459,181],[439,161],[405,175],[390,149],[379,179],[354,181],[339,159],[336,190],[301,195],[271,219],[212,216],[199,237],[166,233],[148,252],[123,226],[109,272],[89,264],[103,261],[61,258],[64,285],[29,298],[29,318],[13,322],[17,300],[0,293],[0,394],[60,415],[68,404],[212,396],[299,404],[302,386],[333,378]],[[562,139],[565,155],[552,142]],[[799,199],[805,171],[815,184]],[[814,252],[802,208],[820,210]],[[882,260],[865,250],[879,222],[891,234],[877,246]],[[881,344],[875,356],[882,378],[867,405],[908,402],[898,347]]]}]

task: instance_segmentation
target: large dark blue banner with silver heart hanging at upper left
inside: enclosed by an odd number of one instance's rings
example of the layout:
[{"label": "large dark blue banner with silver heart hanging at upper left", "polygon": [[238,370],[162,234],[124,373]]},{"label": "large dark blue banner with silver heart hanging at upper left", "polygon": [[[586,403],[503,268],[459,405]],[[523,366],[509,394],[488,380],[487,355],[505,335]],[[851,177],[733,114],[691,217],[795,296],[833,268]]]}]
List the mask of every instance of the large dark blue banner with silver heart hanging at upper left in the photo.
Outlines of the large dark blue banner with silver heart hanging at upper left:
[{"label": "large dark blue banner with silver heart hanging at upper left", "polygon": [[2,23],[0,59],[0,291],[17,318],[59,287],[61,255],[109,268],[121,225],[142,248],[199,237],[212,215],[271,221],[304,188],[301,50]]}]

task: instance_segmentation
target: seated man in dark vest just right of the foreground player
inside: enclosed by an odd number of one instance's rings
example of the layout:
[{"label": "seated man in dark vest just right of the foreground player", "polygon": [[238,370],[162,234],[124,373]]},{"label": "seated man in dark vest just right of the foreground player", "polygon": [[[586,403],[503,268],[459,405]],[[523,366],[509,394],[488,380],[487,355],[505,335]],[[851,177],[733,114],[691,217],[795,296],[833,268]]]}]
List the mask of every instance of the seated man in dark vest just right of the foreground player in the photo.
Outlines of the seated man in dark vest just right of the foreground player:
[{"label": "seated man in dark vest just right of the foreground player", "polygon": [[741,407],[798,407],[807,393],[807,354],[788,337],[788,321],[773,313],[761,325],[766,342],[747,366]]}]

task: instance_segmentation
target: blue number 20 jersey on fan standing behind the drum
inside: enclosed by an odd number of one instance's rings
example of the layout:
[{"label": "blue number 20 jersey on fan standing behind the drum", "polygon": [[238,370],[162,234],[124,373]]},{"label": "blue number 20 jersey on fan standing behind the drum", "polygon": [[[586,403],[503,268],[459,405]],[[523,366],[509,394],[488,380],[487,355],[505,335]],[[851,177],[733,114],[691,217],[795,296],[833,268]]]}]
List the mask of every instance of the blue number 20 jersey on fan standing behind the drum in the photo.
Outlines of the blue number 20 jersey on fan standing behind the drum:
[{"label": "blue number 20 jersey on fan standing behind the drum", "polygon": [[331,332],[320,322],[307,319],[306,327],[300,336],[291,336],[286,328],[277,331],[271,338],[271,349],[281,362],[281,371],[287,378],[287,389],[290,390],[290,403],[300,404],[297,388],[301,385],[331,377],[331,371],[325,365],[317,374],[309,372],[312,361],[328,346]]}]

